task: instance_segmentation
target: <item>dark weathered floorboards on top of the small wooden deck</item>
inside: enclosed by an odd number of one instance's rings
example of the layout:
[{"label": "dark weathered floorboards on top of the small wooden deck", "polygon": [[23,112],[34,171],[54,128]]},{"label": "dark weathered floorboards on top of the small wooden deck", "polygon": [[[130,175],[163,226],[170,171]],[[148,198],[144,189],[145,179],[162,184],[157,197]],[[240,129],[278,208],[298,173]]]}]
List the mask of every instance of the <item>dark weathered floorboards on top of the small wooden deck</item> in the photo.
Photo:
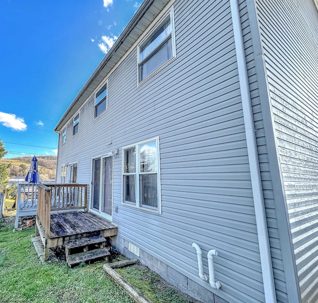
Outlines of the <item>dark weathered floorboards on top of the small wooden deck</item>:
[{"label": "dark weathered floorboards on top of the small wooden deck", "polygon": [[88,212],[51,214],[51,232],[55,237],[117,229],[116,225]]}]

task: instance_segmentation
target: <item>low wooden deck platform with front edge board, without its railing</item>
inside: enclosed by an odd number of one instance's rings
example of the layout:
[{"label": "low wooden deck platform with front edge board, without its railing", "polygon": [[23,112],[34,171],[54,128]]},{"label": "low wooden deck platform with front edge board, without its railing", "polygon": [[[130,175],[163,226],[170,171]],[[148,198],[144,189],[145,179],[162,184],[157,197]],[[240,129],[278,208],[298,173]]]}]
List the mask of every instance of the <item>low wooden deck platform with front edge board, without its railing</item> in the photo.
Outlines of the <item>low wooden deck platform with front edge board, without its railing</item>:
[{"label": "low wooden deck platform with front edge board, without its railing", "polygon": [[[44,229],[38,225],[40,235]],[[46,248],[65,245],[65,241],[92,235],[110,237],[117,234],[117,226],[89,212],[64,212],[51,214],[50,236]]]}]

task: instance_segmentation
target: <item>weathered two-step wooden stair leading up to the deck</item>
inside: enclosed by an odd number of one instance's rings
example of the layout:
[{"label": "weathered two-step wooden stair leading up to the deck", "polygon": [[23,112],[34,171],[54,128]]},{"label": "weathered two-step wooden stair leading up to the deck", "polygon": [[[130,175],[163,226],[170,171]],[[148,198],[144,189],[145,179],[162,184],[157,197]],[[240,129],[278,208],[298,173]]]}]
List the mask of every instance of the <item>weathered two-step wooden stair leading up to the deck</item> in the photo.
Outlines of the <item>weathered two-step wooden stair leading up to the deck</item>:
[{"label": "weathered two-step wooden stair leading up to the deck", "polygon": [[108,260],[110,252],[105,248],[105,238],[102,235],[93,235],[70,240],[65,243],[66,261],[70,267],[81,262],[104,258]]}]

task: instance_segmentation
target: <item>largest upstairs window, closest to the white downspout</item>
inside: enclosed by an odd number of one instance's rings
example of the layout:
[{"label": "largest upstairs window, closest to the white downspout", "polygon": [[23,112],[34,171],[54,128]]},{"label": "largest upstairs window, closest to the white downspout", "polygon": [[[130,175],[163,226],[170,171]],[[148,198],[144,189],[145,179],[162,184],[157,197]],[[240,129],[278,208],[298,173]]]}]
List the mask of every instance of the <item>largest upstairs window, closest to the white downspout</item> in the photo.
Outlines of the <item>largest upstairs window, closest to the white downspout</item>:
[{"label": "largest upstairs window, closest to the white downspout", "polygon": [[139,82],[175,57],[173,9],[138,46]]}]

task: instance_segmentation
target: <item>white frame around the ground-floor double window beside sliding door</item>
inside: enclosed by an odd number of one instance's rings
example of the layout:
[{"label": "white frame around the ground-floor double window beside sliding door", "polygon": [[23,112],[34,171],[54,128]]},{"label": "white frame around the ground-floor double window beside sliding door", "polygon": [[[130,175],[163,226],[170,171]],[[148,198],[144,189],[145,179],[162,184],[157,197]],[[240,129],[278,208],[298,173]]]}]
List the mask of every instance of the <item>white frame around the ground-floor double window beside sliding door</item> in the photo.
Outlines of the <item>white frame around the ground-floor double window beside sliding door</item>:
[{"label": "white frame around the ground-floor double window beside sliding door", "polygon": [[[139,199],[139,170],[140,170],[140,163],[139,163],[139,146],[148,142],[154,142],[156,141],[157,145],[157,191],[158,191],[158,208],[157,210],[150,209],[150,208],[145,208],[140,205],[140,199]],[[131,147],[136,148],[136,179],[135,179],[135,186],[136,186],[136,204],[132,204],[130,202],[125,202],[124,201],[124,163],[125,163],[125,155],[124,155],[124,150],[129,149]],[[129,206],[132,208],[140,209],[143,211],[147,212],[152,212],[152,213],[159,213],[162,214],[161,211],[161,176],[160,176],[160,149],[159,149],[159,137],[151,138],[145,141],[138,142],[136,144],[131,144],[128,146],[125,146],[122,148],[122,172],[121,172],[121,204],[125,206]]]}]

